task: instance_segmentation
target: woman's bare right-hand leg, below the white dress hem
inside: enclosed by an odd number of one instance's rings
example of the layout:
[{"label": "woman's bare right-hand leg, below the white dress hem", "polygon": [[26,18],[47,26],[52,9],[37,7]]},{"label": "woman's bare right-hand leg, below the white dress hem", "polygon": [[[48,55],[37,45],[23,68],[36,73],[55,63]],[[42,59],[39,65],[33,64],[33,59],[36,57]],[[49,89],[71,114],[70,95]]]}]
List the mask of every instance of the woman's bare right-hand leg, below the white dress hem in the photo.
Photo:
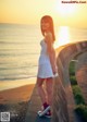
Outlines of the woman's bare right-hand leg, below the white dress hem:
[{"label": "woman's bare right-hand leg, below the white dress hem", "polygon": [[46,81],[46,90],[47,90],[47,97],[48,97],[48,103],[51,106],[52,103],[52,87],[53,87],[53,78],[47,78]]}]

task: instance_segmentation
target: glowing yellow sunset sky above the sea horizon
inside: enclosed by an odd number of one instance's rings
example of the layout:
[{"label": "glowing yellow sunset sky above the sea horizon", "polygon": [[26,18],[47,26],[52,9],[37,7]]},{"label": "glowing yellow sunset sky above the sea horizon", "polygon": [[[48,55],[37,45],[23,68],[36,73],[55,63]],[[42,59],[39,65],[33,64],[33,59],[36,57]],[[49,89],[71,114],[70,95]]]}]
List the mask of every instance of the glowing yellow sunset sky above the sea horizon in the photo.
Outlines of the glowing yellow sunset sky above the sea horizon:
[{"label": "glowing yellow sunset sky above the sea horizon", "polygon": [[0,23],[39,24],[48,14],[58,26],[87,28],[87,3],[62,1],[71,0],[0,0]]}]

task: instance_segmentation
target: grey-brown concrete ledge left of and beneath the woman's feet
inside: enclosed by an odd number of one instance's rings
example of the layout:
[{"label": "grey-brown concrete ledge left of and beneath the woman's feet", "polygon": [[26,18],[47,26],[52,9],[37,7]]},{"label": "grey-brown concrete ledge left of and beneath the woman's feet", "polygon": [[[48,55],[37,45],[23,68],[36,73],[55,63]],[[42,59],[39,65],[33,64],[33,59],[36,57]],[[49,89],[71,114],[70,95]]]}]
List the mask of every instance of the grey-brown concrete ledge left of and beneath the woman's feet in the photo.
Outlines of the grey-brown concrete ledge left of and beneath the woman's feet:
[{"label": "grey-brown concrete ledge left of and beneath the woman's feet", "polygon": [[37,111],[41,109],[41,101],[37,94],[37,86],[35,86],[30,101],[27,106],[25,122],[50,122],[49,118],[39,118]]}]

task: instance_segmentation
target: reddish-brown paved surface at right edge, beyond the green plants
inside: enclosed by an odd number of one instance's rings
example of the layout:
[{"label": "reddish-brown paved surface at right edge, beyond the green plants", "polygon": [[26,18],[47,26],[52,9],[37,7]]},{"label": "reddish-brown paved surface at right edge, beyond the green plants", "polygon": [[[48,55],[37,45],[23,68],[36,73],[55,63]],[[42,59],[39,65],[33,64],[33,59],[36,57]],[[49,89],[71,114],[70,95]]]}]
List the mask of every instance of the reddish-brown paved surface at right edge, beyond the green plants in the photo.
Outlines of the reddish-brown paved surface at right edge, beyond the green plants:
[{"label": "reddish-brown paved surface at right edge, beyond the green plants", "polygon": [[87,105],[87,51],[78,54],[76,58],[78,60],[78,62],[75,64],[76,81],[82,89],[83,97]]}]

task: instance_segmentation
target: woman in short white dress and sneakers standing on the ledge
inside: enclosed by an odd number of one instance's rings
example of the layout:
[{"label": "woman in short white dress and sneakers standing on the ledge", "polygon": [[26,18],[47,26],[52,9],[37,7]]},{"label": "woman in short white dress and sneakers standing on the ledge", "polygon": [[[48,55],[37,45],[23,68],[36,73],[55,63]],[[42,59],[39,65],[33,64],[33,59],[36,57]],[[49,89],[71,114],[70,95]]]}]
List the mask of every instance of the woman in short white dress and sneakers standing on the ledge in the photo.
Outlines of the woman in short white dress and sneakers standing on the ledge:
[{"label": "woman in short white dress and sneakers standing on the ledge", "polygon": [[[40,27],[44,39],[40,42],[41,52],[38,64],[37,89],[41,98],[44,110],[38,111],[38,114],[39,117],[51,117],[52,82],[57,73],[55,51],[53,48],[55,37],[52,17],[49,15],[42,16]],[[46,87],[44,87],[44,82],[46,82]]]}]

